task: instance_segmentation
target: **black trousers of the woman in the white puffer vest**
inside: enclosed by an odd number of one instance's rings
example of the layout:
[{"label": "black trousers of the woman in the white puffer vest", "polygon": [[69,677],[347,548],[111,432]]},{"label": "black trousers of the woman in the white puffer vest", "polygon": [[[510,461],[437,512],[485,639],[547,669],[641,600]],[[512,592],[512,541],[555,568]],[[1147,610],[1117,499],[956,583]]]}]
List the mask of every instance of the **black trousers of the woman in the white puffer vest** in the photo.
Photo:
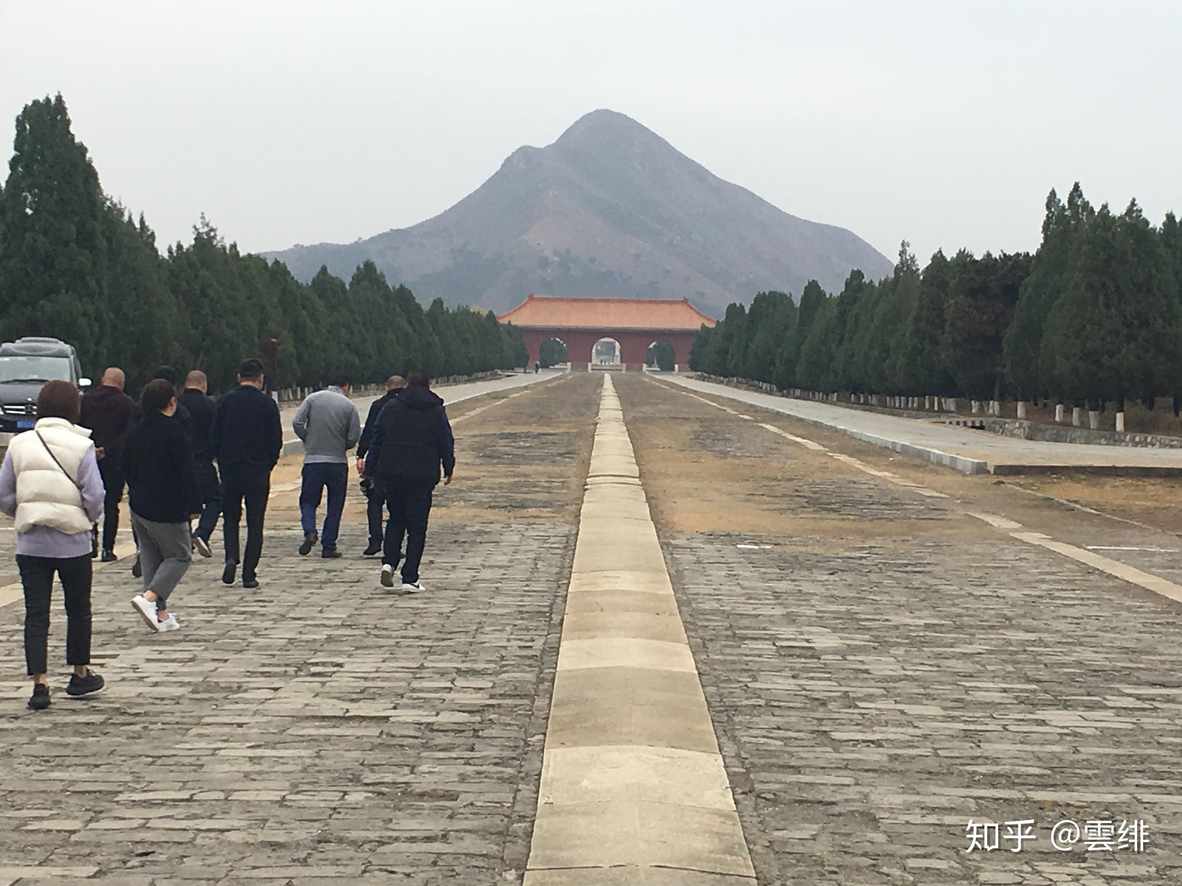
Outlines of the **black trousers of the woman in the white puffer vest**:
[{"label": "black trousers of the woman in the white puffer vest", "polygon": [[61,579],[66,602],[66,664],[90,664],[90,554],[30,556],[17,554],[25,587],[25,665],[28,675],[45,673],[50,643],[50,598],[53,573]]}]

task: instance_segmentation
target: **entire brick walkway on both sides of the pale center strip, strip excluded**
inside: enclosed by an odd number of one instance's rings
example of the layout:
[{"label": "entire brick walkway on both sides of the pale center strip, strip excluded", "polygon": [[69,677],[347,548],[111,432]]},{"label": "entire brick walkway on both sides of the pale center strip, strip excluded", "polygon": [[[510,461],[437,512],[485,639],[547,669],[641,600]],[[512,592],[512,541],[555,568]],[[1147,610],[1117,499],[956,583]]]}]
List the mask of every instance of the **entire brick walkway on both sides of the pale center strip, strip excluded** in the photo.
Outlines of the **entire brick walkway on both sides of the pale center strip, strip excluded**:
[{"label": "entire brick walkway on both sides of the pale center strip, strip excluded", "polygon": [[[972,513],[1141,542],[1113,556],[1150,571],[1182,546],[615,383],[761,885],[1182,884],[1182,606]],[[260,592],[199,563],[177,634],[147,634],[126,565],[100,568],[97,698],[26,711],[21,613],[0,607],[0,885],[520,882],[598,384],[455,409],[427,594],[378,589],[352,491],[350,555],[298,558],[288,489]],[[1037,840],[966,853],[970,819]],[[1148,843],[1057,852],[1063,819],[1143,820]]]}]

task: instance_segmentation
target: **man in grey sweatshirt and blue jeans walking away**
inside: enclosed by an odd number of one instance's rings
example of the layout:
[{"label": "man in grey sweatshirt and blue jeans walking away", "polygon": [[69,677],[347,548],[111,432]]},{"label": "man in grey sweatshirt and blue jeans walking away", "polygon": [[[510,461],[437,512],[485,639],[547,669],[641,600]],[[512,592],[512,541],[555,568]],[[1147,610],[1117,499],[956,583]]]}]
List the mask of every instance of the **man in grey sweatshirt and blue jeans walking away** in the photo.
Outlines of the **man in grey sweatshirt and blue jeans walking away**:
[{"label": "man in grey sweatshirt and blue jeans walking away", "polygon": [[332,379],[324,391],[317,391],[300,404],[292,419],[292,430],[304,441],[304,473],[299,490],[299,519],[304,542],[299,553],[306,556],[317,542],[316,509],[329,488],[329,508],[324,515],[324,534],[319,541],[325,559],[340,556],[337,533],[345,509],[349,487],[349,450],[362,436],[361,417],[349,399],[350,384],[344,376]]}]

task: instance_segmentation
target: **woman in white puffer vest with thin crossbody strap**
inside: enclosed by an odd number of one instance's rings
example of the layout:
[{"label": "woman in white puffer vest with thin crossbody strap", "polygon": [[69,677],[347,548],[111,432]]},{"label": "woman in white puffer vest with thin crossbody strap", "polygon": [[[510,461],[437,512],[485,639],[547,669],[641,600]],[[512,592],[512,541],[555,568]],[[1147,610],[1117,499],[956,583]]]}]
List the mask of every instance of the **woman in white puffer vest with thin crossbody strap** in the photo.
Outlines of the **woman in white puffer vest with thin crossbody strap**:
[{"label": "woman in white puffer vest with thin crossbody strap", "polygon": [[47,382],[37,398],[37,424],[8,444],[0,467],[0,512],[17,519],[17,566],[25,588],[25,664],[33,678],[28,706],[50,706],[45,673],[53,574],[66,604],[66,695],[103,688],[90,664],[91,528],[103,513],[103,480],[90,431],[74,422],[78,389]]}]

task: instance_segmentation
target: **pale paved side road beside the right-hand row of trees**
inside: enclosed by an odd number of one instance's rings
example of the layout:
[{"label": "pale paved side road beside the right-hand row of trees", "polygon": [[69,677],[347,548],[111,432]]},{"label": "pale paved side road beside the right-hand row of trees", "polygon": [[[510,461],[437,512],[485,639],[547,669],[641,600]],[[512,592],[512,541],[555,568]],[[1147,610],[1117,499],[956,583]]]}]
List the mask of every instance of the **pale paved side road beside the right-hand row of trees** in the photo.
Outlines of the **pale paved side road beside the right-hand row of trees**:
[{"label": "pale paved side road beside the right-hand row of trees", "polygon": [[[989,431],[955,428],[916,418],[901,418],[813,400],[777,397],[680,374],[662,378],[699,393],[712,393],[790,415],[814,425],[877,442],[903,452],[921,455],[965,473],[1014,470],[1022,465],[1046,470],[1052,465],[1119,465],[1182,471],[1182,449],[1104,447],[1002,437]],[[1000,468],[1000,469],[999,469]]]}]

